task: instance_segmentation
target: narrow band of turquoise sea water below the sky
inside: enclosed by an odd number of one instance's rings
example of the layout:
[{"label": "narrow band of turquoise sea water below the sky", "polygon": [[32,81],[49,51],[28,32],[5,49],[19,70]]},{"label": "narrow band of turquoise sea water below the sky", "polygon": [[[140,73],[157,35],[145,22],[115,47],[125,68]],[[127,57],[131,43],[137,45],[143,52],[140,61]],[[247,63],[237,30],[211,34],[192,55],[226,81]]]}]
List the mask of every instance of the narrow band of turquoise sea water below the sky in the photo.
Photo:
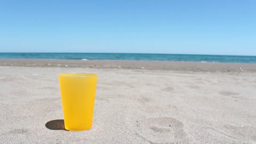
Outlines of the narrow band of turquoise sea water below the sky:
[{"label": "narrow band of turquoise sea water below the sky", "polygon": [[256,56],[146,53],[0,53],[7,59],[157,60],[256,63]]}]

